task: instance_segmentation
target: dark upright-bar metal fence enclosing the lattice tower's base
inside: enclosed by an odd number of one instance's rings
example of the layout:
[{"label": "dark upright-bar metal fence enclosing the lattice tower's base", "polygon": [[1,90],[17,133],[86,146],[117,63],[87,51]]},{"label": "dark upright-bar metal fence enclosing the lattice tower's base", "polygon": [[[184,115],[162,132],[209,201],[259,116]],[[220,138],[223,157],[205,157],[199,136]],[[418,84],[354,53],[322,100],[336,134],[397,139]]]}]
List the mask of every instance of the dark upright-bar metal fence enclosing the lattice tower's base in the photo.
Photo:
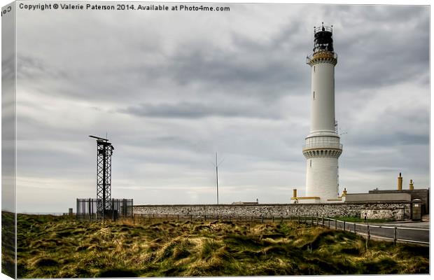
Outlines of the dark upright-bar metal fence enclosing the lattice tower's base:
[{"label": "dark upright-bar metal fence enclosing the lattice tower's base", "polygon": [[94,198],[78,198],[77,213],[78,220],[117,220],[118,218],[132,218],[132,199],[111,199],[106,200],[106,207],[103,207],[103,200]]}]

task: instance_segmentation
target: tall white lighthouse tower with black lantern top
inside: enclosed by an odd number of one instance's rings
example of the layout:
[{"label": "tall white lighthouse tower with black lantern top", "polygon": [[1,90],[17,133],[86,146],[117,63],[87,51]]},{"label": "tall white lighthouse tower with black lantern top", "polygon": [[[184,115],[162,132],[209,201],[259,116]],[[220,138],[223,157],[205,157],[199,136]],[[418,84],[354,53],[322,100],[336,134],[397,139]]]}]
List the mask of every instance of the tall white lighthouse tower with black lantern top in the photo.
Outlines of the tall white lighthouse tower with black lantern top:
[{"label": "tall white lighthouse tower with black lantern top", "polygon": [[335,65],[331,27],[314,27],[311,66],[311,126],[303,146],[307,160],[306,197],[299,202],[339,202],[338,163],[342,153],[335,120]]}]

